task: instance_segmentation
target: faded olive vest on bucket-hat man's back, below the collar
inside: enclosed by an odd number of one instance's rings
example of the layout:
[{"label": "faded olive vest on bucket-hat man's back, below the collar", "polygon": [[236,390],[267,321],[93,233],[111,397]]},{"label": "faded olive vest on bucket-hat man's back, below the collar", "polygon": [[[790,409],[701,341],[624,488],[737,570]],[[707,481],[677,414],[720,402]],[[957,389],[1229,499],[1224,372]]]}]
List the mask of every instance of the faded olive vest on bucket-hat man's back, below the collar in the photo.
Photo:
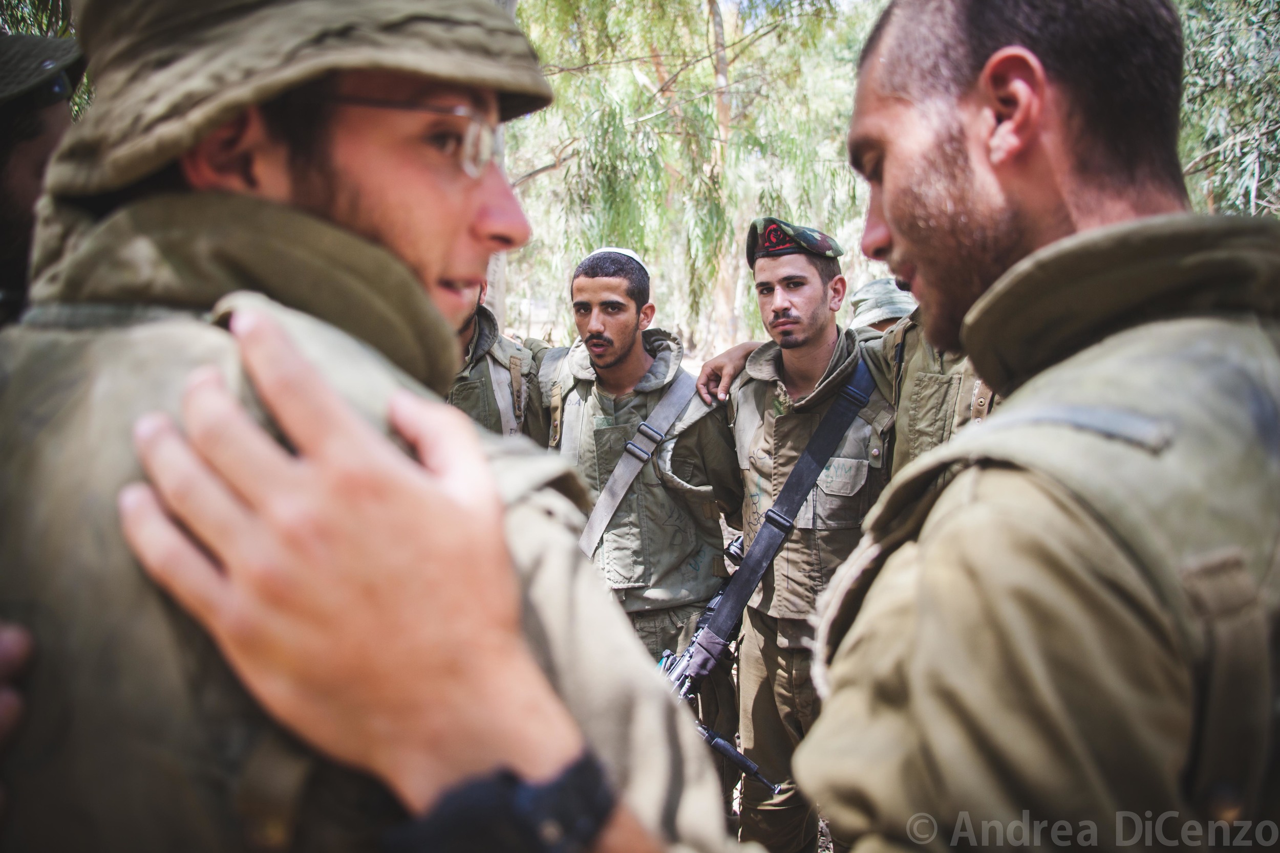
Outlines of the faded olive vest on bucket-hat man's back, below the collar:
[{"label": "faded olive vest on bucket-hat man's back, below the collar", "polygon": [[[12,524],[0,616],[31,627],[37,647],[28,719],[3,762],[0,852],[374,853],[406,818],[379,781],[268,717],[120,538],[115,494],[141,478],[133,418],[172,408],[198,364],[216,364],[253,404],[233,340],[210,322],[244,307],[273,315],[380,427],[394,391],[429,394],[360,340],[253,293],[211,316],[42,303],[0,336],[0,505]],[[131,384],[141,391],[119,396]],[[582,497],[566,466],[527,441],[484,442],[508,505],[545,486]],[[59,528],[63,515],[81,527]]]}]

